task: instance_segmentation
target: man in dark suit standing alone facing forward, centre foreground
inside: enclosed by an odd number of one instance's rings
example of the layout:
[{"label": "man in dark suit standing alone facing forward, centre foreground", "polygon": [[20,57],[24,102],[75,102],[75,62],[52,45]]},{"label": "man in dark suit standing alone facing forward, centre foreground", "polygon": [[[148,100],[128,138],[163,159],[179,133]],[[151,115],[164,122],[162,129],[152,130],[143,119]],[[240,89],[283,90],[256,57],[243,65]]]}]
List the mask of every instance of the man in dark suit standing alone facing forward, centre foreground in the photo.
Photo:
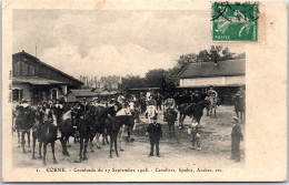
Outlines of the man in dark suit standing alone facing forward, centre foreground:
[{"label": "man in dark suit standing alone facing forward, centre foreground", "polygon": [[149,157],[153,156],[153,150],[156,145],[157,156],[160,157],[159,142],[162,137],[161,124],[157,123],[157,116],[153,117],[153,122],[149,124],[146,135],[149,134],[150,138],[150,153]]}]

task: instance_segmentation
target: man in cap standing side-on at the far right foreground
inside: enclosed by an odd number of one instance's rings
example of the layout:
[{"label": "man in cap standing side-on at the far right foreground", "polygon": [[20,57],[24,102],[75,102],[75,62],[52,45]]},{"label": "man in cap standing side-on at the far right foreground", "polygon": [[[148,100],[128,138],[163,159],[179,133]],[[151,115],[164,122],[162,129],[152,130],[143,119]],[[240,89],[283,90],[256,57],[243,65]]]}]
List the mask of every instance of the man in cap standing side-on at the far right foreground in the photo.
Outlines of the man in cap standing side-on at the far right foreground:
[{"label": "man in cap standing side-on at the far right foreground", "polygon": [[243,136],[239,125],[239,119],[233,116],[231,123],[233,124],[231,132],[231,160],[240,162],[240,142],[243,140]]}]

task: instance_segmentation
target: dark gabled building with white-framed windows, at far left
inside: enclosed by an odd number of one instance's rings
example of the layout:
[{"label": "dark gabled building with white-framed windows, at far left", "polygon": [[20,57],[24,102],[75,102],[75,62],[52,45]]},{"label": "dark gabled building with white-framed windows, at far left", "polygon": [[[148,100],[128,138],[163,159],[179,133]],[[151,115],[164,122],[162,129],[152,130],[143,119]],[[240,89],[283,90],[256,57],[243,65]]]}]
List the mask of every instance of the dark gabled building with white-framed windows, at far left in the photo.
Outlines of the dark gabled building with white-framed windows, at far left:
[{"label": "dark gabled building with white-framed windows, at far left", "polygon": [[12,55],[12,101],[22,99],[31,104],[64,97],[70,89],[79,89],[82,82],[48,65],[22,51]]}]

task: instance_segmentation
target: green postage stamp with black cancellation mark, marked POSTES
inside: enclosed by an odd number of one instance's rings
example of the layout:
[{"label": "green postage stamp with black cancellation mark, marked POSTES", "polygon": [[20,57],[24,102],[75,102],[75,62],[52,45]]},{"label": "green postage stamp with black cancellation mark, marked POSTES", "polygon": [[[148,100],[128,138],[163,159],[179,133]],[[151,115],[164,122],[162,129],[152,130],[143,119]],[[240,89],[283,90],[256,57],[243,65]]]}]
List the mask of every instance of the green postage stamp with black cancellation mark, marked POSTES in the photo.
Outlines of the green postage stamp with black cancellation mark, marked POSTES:
[{"label": "green postage stamp with black cancellation mark, marked POSTES", "polygon": [[213,2],[212,41],[258,42],[258,2]]}]

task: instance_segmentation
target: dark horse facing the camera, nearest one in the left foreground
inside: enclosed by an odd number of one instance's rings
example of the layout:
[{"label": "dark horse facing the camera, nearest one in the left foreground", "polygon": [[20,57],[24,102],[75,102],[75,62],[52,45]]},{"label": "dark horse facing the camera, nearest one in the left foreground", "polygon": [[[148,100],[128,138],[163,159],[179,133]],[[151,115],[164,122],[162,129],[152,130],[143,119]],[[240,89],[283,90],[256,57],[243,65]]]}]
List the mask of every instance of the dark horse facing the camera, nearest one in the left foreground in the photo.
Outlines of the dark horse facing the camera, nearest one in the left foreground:
[{"label": "dark horse facing the camera, nearest one in the left foreground", "polygon": [[[56,116],[53,115],[52,111],[50,109],[46,109],[46,113],[42,116],[37,112],[33,114],[37,124],[33,125],[33,132],[32,132],[32,137],[33,137],[33,153],[32,153],[32,158],[34,160],[34,148],[36,148],[36,141],[39,141],[39,157],[43,158],[43,166],[47,165],[46,163],[46,155],[47,155],[47,145],[50,143],[51,144],[51,150],[52,150],[52,160],[53,164],[57,164],[56,155],[54,155],[54,144],[57,138],[57,124],[56,124]],[[41,147],[43,145],[43,157],[41,155]]]}]

